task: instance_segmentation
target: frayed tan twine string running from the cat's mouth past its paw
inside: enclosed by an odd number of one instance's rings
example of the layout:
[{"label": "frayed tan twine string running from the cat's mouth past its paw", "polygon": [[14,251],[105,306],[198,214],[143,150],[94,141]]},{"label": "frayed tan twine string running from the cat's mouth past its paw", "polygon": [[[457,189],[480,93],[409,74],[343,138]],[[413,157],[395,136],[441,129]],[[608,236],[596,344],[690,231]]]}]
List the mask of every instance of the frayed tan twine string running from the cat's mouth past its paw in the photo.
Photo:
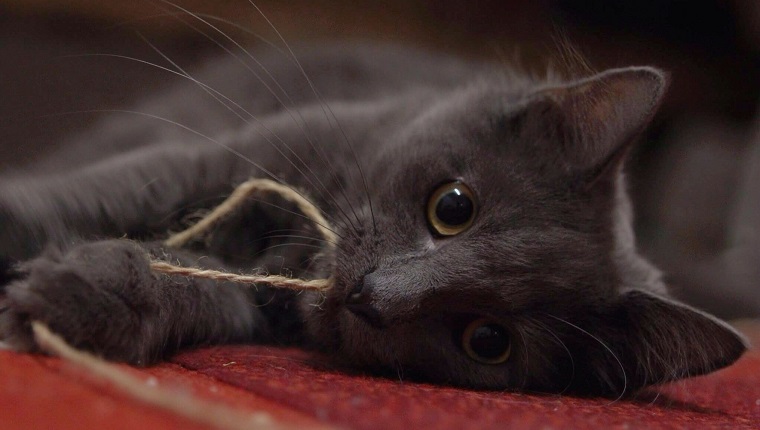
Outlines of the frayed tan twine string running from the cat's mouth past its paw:
[{"label": "frayed tan twine string running from the cat's mouth past its paw", "polygon": [[[191,240],[202,238],[220,220],[238,209],[245,200],[257,192],[275,192],[286,200],[293,202],[308,217],[328,246],[334,246],[335,233],[319,209],[303,196],[284,185],[267,179],[251,179],[244,182],[211,213],[192,227],[169,237],[164,243],[173,248],[180,248]],[[301,291],[325,291],[330,288],[331,279],[295,279],[280,275],[240,275],[218,270],[182,267],[165,261],[153,260],[150,267],[155,272],[167,275],[180,275],[195,278],[214,279],[245,284],[265,284],[277,288]],[[178,393],[160,387],[151,387],[139,378],[119,369],[117,366],[92,354],[77,350],[66,343],[60,336],[39,321],[32,321],[34,339],[40,349],[56,355],[68,363],[87,372],[100,381],[111,384],[125,395],[140,402],[172,412],[193,422],[225,430],[280,430],[292,429],[293,426],[277,422],[270,414],[262,411],[244,413],[221,403],[203,400],[187,393]],[[321,428],[333,428],[323,425]]]}]

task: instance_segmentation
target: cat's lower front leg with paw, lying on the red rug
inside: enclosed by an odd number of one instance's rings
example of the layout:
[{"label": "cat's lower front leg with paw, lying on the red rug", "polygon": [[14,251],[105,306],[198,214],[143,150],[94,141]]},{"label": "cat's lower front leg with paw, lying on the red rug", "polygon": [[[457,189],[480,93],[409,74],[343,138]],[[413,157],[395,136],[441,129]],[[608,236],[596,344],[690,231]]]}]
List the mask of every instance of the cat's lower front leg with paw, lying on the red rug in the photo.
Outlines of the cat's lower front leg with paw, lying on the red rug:
[{"label": "cat's lower front leg with paw, lying on the red rug", "polygon": [[[150,259],[197,265],[187,251],[108,240],[47,250],[0,288],[0,340],[36,349],[38,320],[77,348],[146,365],[182,346],[265,338],[254,290],[151,272]],[[211,257],[204,267],[224,267]]]}]

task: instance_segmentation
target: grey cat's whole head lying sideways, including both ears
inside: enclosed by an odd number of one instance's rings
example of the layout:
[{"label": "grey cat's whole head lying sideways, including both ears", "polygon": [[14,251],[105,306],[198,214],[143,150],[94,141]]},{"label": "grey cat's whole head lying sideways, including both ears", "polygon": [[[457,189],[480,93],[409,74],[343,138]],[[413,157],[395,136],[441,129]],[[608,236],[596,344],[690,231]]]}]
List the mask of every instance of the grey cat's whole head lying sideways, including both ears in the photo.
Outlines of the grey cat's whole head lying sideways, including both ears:
[{"label": "grey cat's whole head lying sideways, including both ears", "polygon": [[438,95],[382,142],[310,329],[350,365],[474,388],[617,395],[734,362],[742,338],[635,250],[622,164],[665,87],[640,67]]}]

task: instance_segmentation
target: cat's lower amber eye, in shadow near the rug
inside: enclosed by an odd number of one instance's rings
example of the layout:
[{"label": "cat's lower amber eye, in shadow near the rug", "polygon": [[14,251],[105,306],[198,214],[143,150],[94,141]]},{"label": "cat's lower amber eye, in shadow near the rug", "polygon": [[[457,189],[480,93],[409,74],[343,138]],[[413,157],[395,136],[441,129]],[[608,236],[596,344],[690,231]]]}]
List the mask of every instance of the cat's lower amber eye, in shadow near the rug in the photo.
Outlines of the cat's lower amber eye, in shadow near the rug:
[{"label": "cat's lower amber eye, in shadow near the rug", "polygon": [[479,318],[464,329],[462,348],[475,361],[500,364],[509,358],[512,343],[509,332],[502,325]]}]

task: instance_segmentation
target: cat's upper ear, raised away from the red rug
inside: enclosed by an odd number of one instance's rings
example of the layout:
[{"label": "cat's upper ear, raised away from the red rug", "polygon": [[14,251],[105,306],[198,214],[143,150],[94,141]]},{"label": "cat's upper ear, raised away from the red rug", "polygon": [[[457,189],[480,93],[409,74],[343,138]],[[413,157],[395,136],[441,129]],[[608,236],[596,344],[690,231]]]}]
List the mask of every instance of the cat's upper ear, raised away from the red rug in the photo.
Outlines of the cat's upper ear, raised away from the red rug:
[{"label": "cat's upper ear, raised away from the red rug", "polygon": [[562,150],[573,170],[603,169],[625,158],[667,87],[651,67],[612,69],[540,91],[562,117]]}]

